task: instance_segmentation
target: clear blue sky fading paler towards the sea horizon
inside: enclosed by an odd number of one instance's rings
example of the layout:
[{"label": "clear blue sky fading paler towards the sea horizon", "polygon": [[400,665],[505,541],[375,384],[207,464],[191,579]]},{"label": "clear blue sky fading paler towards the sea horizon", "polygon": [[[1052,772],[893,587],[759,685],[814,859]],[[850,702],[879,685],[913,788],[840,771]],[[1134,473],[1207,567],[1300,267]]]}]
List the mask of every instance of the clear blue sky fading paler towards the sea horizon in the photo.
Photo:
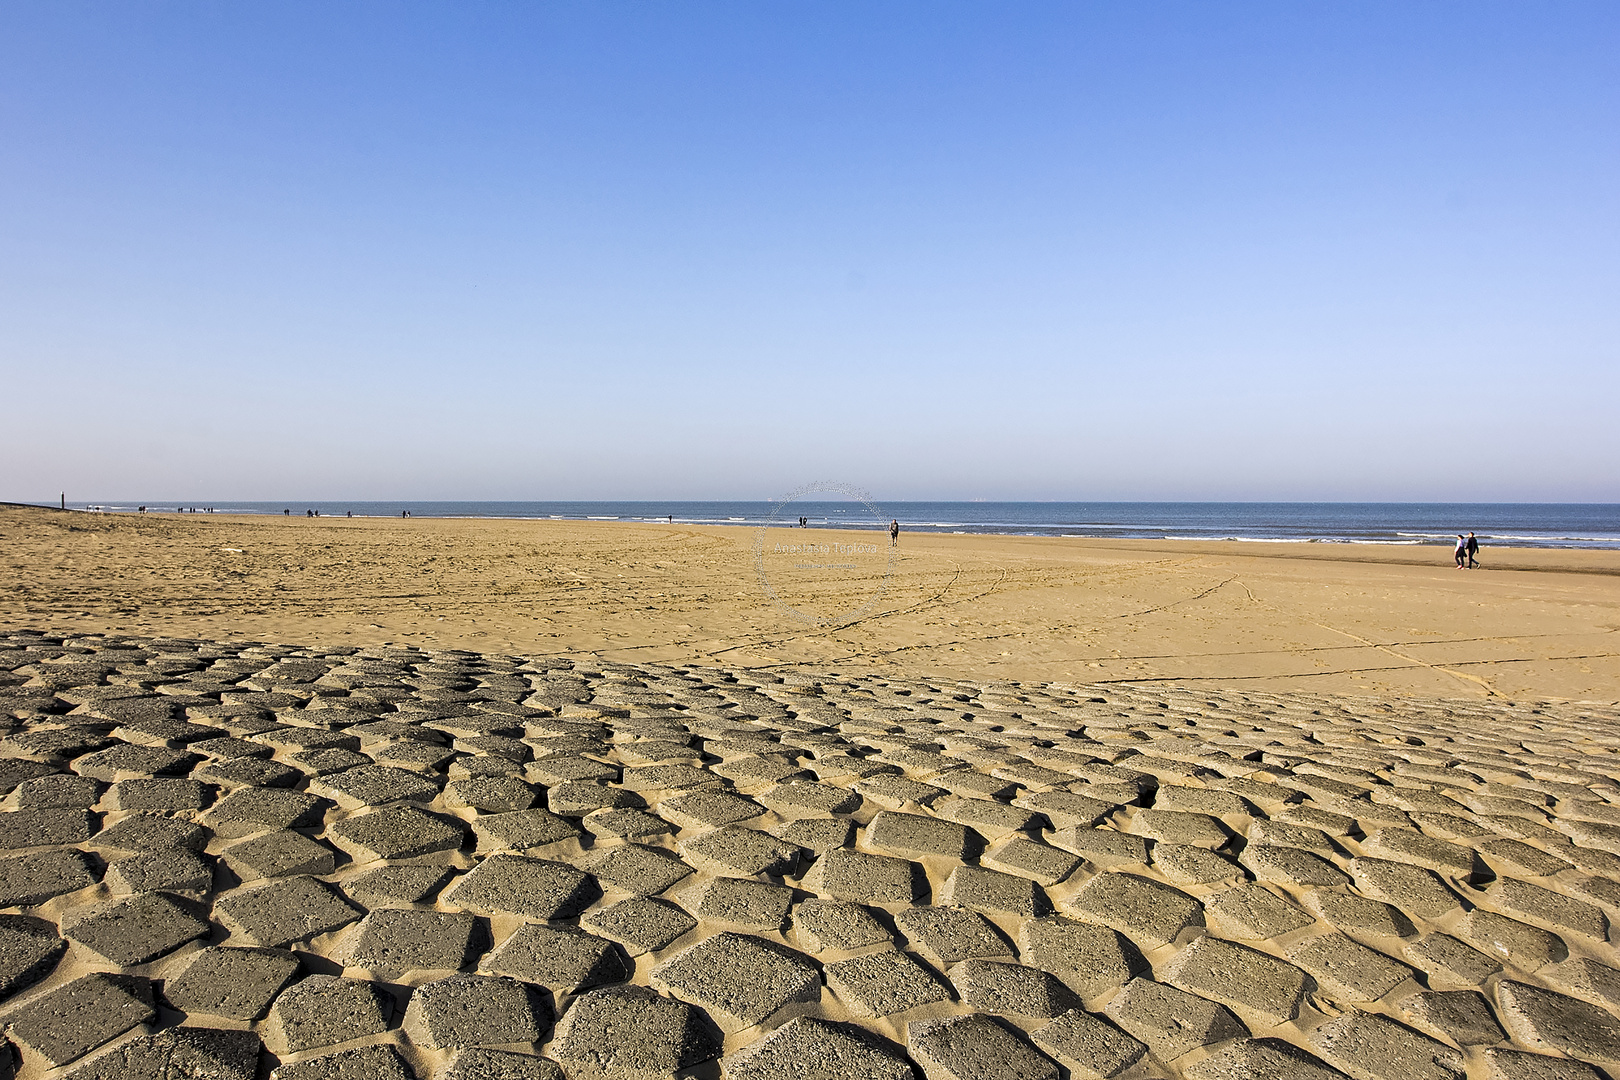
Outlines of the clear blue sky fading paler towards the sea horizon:
[{"label": "clear blue sky fading paler towards the sea horizon", "polygon": [[1620,500],[1620,5],[0,3],[0,499]]}]

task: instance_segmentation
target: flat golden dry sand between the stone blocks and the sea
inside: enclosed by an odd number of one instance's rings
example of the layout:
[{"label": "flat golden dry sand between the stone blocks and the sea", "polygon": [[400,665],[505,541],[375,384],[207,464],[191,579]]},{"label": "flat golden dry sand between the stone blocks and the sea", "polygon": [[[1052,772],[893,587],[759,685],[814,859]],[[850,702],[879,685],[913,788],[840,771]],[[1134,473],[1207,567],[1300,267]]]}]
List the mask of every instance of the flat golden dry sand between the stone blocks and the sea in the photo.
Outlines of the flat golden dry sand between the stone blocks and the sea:
[{"label": "flat golden dry sand between the stone blocks and the sea", "polygon": [[[782,529],[829,541],[828,531]],[[0,508],[0,623],[928,678],[1620,699],[1620,552],[902,534],[804,625],[748,528]],[[846,539],[872,542],[873,534]],[[885,557],[816,610],[876,596]],[[859,563],[865,567],[865,563]]]}]

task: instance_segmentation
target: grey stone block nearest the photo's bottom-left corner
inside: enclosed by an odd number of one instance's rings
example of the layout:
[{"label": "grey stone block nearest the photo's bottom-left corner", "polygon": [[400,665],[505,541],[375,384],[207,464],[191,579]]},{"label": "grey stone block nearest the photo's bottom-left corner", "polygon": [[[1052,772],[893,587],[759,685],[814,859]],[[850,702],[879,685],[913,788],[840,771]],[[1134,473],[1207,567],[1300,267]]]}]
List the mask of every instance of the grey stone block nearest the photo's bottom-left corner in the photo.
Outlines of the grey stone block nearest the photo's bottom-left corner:
[{"label": "grey stone block nearest the photo's bottom-left corner", "polygon": [[60,1067],[156,1015],[144,978],[94,973],[13,1009],[5,1028],[26,1054]]}]

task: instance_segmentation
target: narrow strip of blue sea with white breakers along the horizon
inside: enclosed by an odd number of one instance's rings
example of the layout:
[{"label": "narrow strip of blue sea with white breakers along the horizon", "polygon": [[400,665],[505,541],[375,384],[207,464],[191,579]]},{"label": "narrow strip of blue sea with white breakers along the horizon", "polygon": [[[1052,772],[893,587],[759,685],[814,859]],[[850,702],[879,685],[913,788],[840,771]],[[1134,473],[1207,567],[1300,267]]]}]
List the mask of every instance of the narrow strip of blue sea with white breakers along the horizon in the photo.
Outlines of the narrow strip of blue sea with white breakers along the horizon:
[{"label": "narrow strip of blue sea with white breakers along the horizon", "polygon": [[[92,504],[133,512],[139,500]],[[173,512],[173,502],[146,502]],[[876,528],[897,518],[906,533],[998,533],[1129,539],[1234,539],[1314,544],[1440,544],[1469,529],[1481,544],[1511,547],[1620,547],[1620,504],[1419,502],[198,502],[215,513],[303,517],[536,518],[667,521],[680,525]],[[86,507],[76,507],[86,508]]]}]

